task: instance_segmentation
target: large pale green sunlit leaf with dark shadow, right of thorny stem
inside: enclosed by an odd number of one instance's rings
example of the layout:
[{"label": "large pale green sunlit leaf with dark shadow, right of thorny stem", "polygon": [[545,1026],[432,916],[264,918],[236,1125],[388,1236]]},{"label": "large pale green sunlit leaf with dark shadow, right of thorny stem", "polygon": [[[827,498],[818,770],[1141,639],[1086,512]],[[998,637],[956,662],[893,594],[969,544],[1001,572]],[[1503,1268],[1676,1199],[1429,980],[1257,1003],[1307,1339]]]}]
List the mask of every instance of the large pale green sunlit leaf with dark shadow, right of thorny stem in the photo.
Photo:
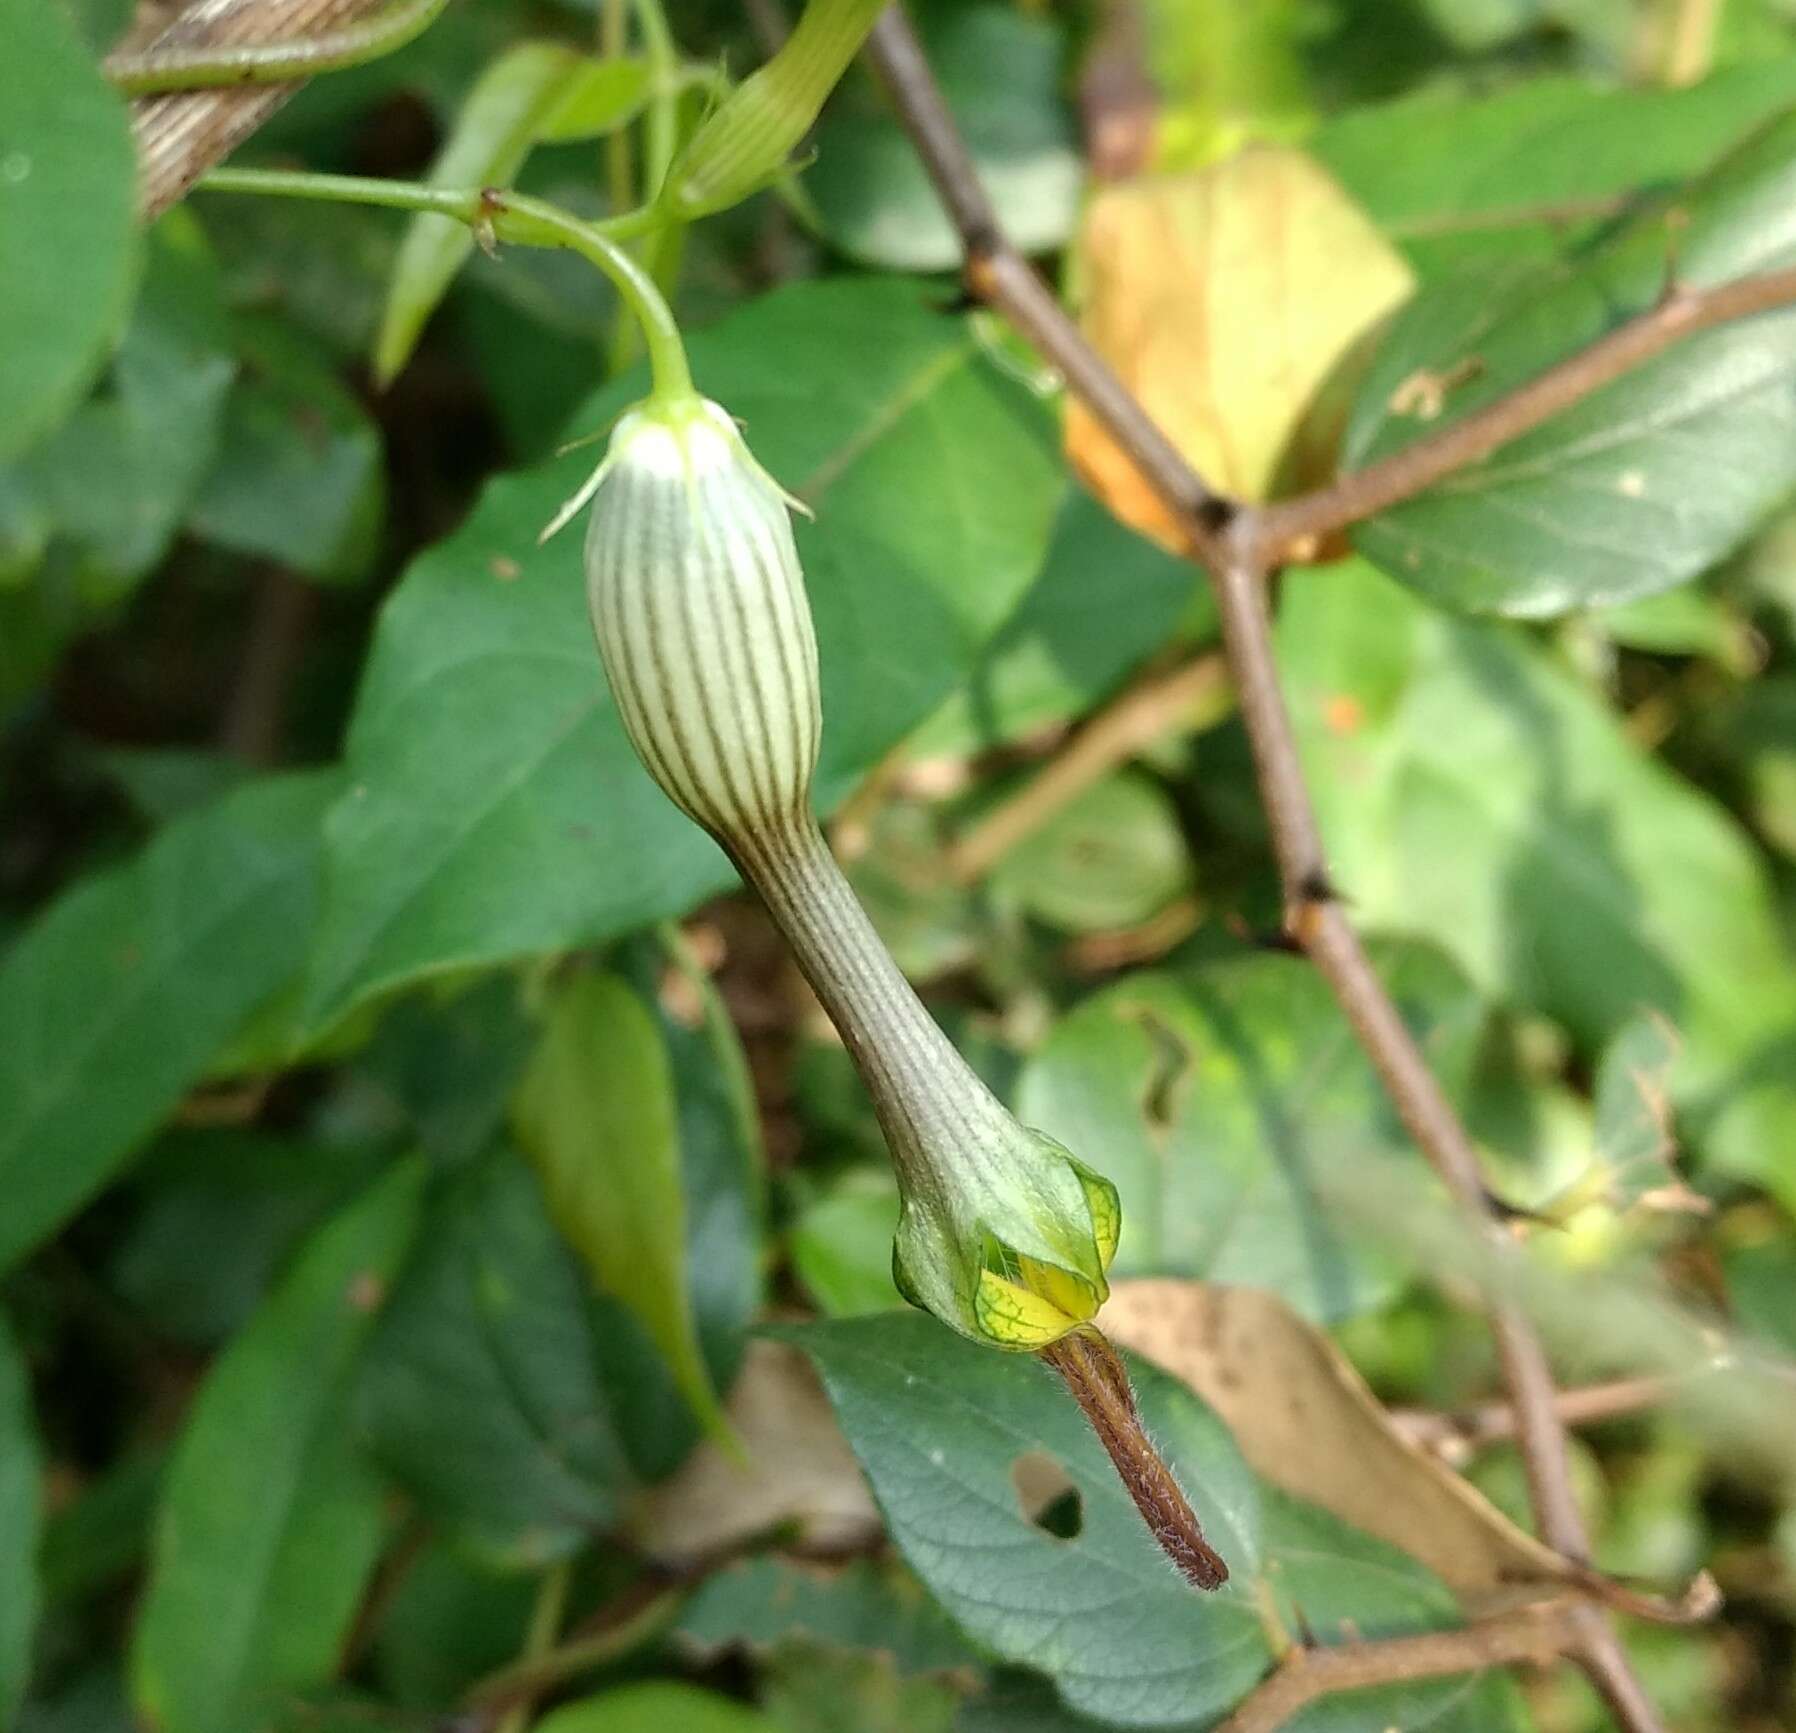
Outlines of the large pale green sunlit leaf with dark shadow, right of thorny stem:
[{"label": "large pale green sunlit leaf with dark shadow, right of thorny stem", "polygon": [[1286,591],[1279,659],[1358,918],[1433,939],[1591,1052],[1656,1009],[1685,1043],[1683,1130],[1796,1196],[1796,973],[1733,821],[1521,632],[1367,566]]}]

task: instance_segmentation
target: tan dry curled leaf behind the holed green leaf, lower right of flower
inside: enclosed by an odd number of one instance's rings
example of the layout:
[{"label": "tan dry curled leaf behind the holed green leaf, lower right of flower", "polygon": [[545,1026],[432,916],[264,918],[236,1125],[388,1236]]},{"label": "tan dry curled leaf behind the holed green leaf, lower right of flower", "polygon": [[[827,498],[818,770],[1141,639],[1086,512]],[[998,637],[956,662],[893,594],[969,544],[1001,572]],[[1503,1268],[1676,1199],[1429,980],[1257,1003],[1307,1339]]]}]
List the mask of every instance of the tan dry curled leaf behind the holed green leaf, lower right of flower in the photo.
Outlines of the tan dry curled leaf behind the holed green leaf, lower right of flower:
[{"label": "tan dry curled leaf behind the holed green leaf, lower right of flower", "polygon": [[1564,1561],[1392,1424],[1282,1300],[1212,1282],[1117,1282],[1097,1320],[1191,1385],[1255,1473],[1419,1559],[1469,1611],[1557,1589]]}]

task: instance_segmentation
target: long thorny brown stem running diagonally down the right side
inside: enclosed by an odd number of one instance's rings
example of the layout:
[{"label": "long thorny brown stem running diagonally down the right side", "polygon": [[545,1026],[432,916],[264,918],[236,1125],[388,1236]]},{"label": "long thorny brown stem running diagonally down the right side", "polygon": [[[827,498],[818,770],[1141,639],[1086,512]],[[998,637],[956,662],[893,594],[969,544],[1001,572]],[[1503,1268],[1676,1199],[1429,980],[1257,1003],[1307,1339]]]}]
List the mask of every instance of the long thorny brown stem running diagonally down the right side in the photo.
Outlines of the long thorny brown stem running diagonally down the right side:
[{"label": "long thorny brown stem running diagonally down the right side", "polygon": [[[1417,1146],[1462,1207],[1483,1225],[1492,1246],[1505,1254],[1512,1252],[1501,1223],[1494,1219],[1471,1139],[1385,993],[1329,885],[1320,830],[1304,785],[1272,650],[1264,576],[1268,553],[1284,546],[1279,535],[1266,530],[1266,521],[1273,514],[1261,514],[1225,499],[1185,463],[1103,357],[1090,348],[1027,260],[1006,242],[959,129],[900,7],[887,7],[875,25],[869,47],[898,115],[961,233],[968,291],[995,305],[1042,348],[1060,368],[1069,390],[1105,422],[1142,478],[1184,519],[1191,550],[1209,567],[1216,584],[1223,639],[1272,828],[1290,932],[1333,988]],[[1791,284],[1791,293],[1796,295],[1796,280]],[[1658,329],[1658,347],[1692,329],[1688,298],[1670,298],[1668,305],[1677,305],[1679,311],[1672,314],[1674,329],[1663,325]],[[1645,352],[1656,350],[1636,352],[1634,361],[1643,359]],[[1607,359],[1600,365],[1607,365]],[[1597,383],[1604,381],[1586,379],[1582,390],[1595,390]],[[1561,393],[1555,408],[1573,400],[1563,395],[1563,383],[1555,391]],[[1534,413],[1541,406],[1541,395],[1536,391],[1536,397],[1525,402],[1528,413]],[[1500,406],[1492,406],[1494,409]],[[1399,454],[1408,458],[1408,479],[1413,485],[1439,479],[1455,462],[1469,462],[1476,454],[1476,447],[1469,447],[1442,463],[1439,472],[1430,474],[1428,465],[1439,460],[1415,458],[1413,453],[1435,445],[1451,433],[1453,429],[1446,429],[1446,435]],[[1509,436],[1514,435],[1507,433],[1505,438]],[[1417,476],[1422,479],[1417,481]],[[1322,497],[1331,492],[1322,490]],[[1293,501],[1293,506],[1279,508],[1286,512],[1284,523],[1307,523],[1309,533],[1327,524],[1327,512],[1311,508],[1309,519],[1297,515],[1302,506],[1304,501]],[[1507,1298],[1492,1306],[1492,1331],[1503,1381],[1516,1410],[1518,1438],[1528,1467],[1528,1487],[1541,1534],[1550,1546],[1584,1564],[1588,1537],[1572,1491],[1566,1433],[1555,1406],[1557,1394],[1546,1354],[1532,1324]],[[1566,1641],[1555,1652],[1568,1652],[1580,1661],[1629,1733],[1658,1733],[1661,1722],[1633,1679],[1615,1631],[1595,1607],[1577,1609],[1566,1627]]]}]

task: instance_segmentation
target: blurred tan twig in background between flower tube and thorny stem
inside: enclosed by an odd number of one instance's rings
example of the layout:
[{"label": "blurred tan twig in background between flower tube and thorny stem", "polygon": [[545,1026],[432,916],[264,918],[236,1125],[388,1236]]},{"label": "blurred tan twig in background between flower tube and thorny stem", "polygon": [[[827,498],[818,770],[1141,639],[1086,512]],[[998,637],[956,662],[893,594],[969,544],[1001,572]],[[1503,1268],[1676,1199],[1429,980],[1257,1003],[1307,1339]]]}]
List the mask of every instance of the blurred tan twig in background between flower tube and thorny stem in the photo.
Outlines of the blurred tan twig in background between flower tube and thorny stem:
[{"label": "blurred tan twig in background between flower tube and thorny stem", "polygon": [[948,873],[973,884],[1092,783],[1151,745],[1227,682],[1219,655],[1196,655],[1128,686],[1076,729],[1008,801],[948,849]]}]

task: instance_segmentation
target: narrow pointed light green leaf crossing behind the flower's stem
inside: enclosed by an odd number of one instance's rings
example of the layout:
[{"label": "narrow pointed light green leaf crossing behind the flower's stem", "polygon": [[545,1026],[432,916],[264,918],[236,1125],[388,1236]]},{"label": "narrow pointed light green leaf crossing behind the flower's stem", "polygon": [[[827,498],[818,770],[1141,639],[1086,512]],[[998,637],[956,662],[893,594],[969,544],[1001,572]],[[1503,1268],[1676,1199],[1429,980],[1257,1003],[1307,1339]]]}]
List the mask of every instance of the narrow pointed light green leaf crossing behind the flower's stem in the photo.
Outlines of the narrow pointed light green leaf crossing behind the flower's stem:
[{"label": "narrow pointed light green leaf crossing behind the flower's stem", "polygon": [[[530,147],[562,115],[569,99],[582,90],[589,93],[591,65],[557,41],[510,47],[469,92],[426,183],[508,187]],[[386,311],[374,339],[375,384],[392,384],[404,368],[426,321],[472,250],[474,235],[465,223],[438,216],[411,219],[393,260]]]}]

